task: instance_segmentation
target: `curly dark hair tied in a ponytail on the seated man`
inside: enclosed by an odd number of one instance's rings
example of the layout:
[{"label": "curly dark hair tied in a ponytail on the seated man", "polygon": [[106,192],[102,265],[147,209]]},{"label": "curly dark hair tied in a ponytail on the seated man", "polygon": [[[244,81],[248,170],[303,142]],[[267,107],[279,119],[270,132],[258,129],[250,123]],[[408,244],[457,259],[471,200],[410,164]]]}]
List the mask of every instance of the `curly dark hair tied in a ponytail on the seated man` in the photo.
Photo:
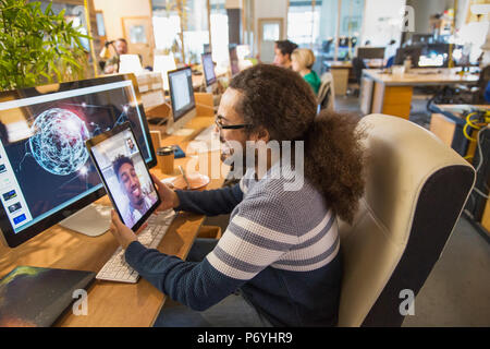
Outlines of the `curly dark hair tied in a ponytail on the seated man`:
[{"label": "curly dark hair tied in a ponytail on the seated man", "polygon": [[236,112],[265,128],[271,141],[305,142],[305,177],[322,193],[343,220],[352,222],[364,194],[364,132],[359,118],[323,110],[299,74],[280,67],[259,64],[235,76],[230,87],[241,93]]}]

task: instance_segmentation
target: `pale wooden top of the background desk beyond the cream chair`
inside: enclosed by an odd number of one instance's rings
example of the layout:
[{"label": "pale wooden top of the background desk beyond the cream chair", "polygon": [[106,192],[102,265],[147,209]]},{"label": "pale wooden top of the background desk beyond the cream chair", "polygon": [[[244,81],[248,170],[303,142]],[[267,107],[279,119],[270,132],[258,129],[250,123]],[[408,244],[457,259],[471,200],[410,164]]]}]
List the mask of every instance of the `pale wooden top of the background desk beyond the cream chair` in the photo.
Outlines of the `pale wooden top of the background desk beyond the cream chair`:
[{"label": "pale wooden top of the background desk beyond the cream chair", "polygon": [[[365,69],[363,74],[387,86],[416,86],[440,84],[473,84],[478,82],[478,75],[460,76],[454,73],[425,74],[422,69],[402,75],[382,73],[379,69]],[[441,70],[444,71],[444,70]],[[445,70],[446,71],[446,70]]]}]

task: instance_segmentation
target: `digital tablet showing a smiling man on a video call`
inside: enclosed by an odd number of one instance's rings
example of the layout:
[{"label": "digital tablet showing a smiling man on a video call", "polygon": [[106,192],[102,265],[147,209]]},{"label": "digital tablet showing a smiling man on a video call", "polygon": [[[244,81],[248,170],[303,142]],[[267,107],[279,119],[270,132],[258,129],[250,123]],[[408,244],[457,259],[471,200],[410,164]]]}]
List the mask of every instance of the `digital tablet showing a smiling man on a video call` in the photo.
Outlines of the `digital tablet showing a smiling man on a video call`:
[{"label": "digital tablet showing a smiling man on a video call", "polygon": [[161,200],[130,123],[117,125],[85,144],[121,220],[136,231]]}]

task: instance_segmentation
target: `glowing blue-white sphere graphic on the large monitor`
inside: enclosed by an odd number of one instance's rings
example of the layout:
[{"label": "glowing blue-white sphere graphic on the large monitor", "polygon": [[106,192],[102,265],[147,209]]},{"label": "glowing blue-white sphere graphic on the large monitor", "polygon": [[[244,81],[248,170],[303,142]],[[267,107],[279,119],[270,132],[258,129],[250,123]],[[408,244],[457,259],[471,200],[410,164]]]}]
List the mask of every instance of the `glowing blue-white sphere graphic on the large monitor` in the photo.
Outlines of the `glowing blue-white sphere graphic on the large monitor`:
[{"label": "glowing blue-white sphere graphic on the large monitor", "polygon": [[90,135],[86,124],[74,112],[48,109],[36,118],[30,130],[33,156],[48,172],[68,176],[87,161],[89,155],[85,141]]}]

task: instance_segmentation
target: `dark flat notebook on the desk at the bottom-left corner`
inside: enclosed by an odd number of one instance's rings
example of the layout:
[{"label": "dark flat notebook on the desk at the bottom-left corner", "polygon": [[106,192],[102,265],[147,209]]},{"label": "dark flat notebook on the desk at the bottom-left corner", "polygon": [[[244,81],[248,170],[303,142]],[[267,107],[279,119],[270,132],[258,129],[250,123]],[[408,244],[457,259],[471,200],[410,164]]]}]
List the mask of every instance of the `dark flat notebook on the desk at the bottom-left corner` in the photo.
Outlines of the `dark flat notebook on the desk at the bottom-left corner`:
[{"label": "dark flat notebook on the desk at the bottom-left corner", "polygon": [[87,289],[93,272],[19,266],[0,279],[0,327],[49,327]]}]

